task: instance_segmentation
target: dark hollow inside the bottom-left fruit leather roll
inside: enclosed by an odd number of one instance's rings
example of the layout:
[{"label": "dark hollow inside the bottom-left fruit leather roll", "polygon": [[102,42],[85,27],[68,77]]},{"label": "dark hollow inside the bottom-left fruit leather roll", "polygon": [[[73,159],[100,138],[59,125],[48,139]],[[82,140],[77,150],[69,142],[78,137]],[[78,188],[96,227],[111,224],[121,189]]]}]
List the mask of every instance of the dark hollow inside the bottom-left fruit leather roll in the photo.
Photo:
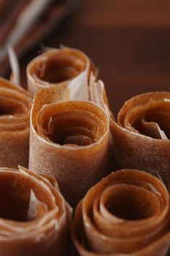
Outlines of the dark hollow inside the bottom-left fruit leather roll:
[{"label": "dark hollow inside the bottom-left fruit leather roll", "polygon": [[[35,208],[35,220],[44,212],[44,207],[52,209],[52,205],[48,202],[46,194],[38,192],[36,184],[28,178],[24,178],[17,173],[1,173],[0,175],[0,218],[7,220],[15,220],[19,222],[27,222],[28,210],[30,207],[30,193],[34,191],[36,197],[43,202]],[[41,212],[40,212],[41,211]]]}]

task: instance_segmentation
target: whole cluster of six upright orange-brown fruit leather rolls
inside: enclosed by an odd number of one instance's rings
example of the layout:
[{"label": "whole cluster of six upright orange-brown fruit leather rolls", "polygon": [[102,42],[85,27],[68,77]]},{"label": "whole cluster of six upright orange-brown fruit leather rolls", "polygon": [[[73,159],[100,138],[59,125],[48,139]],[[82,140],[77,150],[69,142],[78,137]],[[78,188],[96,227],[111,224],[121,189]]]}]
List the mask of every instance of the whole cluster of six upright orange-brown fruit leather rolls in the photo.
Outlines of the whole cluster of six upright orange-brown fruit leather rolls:
[{"label": "whole cluster of six upright orange-brown fruit leather rolls", "polygon": [[116,121],[93,62],[67,47],[33,59],[27,86],[0,78],[0,256],[69,256],[65,199],[80,256],[166,256],[170,93],[129,99]]}]

